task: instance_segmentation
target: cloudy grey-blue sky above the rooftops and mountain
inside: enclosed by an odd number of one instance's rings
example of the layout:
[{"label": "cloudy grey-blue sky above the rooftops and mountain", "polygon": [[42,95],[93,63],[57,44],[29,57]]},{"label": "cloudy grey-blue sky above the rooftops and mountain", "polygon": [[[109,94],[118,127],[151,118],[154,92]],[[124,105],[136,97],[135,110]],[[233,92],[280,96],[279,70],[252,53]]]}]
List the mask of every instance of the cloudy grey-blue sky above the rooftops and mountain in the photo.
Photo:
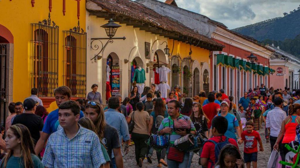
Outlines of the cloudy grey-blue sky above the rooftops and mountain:
[{"label": "cloudy grey-blue sky above the rooftops and mountain", "polygon": [[176,0],[176,3],[233,29],[282,17],[284,12],[297,10],[300,0]]}]

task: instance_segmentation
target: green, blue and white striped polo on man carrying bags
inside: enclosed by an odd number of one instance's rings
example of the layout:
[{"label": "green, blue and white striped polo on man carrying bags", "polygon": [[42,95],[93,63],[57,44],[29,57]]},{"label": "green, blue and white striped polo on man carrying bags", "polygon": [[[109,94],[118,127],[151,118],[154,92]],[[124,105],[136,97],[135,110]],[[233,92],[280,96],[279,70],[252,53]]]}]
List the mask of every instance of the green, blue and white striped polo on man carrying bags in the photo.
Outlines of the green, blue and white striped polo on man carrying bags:
[{"label": "green, blue and white striped polo on man carrying bags", "polygon": [[[192,120],[190,119],[190,117],[180,114],[180,115],[178,116],[178,119],[179,119],[179,120],[185,120],[185,119],[190,120],[191,131],[196,131],[196,128],[195,128],[195,126],[194,126]],[[170,123],[170,124],[169,124],[169,123]],[[158,128],[158,131],[160,131],[160,130],[166,128],[166,127],[171,127],[171,128],[172,128],[172,134],[170,135],[170,143],[171,143],[171,144],[174,144],[174,141],[175,141],[176,139],[181,138],[181,135],[179,135],[179,134],[177,134],[176,132],[174,132],[174,130],[173,130],[173,120],[172,120],[172,118],[170,117],[170,115],[169,115],[167,118],[165,118],[165,119],[161,122],[161,125],[160,125],[159,128]],[[169,135],[169,134],[166,134],[166,135]]]}]

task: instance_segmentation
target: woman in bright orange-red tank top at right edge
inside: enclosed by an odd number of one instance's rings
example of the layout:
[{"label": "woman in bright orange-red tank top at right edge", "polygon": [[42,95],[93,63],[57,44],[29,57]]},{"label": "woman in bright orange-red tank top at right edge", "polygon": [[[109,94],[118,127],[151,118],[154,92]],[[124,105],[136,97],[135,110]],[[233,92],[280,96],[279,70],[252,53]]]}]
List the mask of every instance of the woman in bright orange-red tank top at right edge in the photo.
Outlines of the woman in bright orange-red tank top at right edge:
[{"label": "woman in bright orange-red tank top at right edge", "polygon": [[[277,140],[274,144],[274,149],[278,149],[279,143],[282,140],[282,146],[289,144],[295,140],[296,137],[296,126],[300,123],[300,104],[294,103],[289,105],[289,115],[284,118],[281,124],[281,129]],[[286,148],[283,149],[284,156],[289,152]]]}]

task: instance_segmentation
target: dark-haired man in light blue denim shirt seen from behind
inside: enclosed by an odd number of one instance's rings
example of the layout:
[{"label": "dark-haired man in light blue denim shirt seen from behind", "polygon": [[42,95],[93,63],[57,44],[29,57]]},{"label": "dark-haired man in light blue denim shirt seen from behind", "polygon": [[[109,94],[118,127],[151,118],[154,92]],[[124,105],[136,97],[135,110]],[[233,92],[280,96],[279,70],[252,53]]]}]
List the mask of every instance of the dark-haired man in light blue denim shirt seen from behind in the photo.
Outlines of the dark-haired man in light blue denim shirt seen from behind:
[{"label": "dark-haired man in light blue denim shirt seen from behind", "polygon": [[[128,123],[125,119],[125,116],[119,112],[120,101],[118,97],[110,97],[108,99],[108,107],[109,109],[104,113],[105,121],[110,126],[113,126],[117,129],[120,143],[122,144],[122,138],[125,141],[125,155],[129,152],[129,131],[128,131]],[[116,161],[114,155],[112,155],[112,164],[113,167],[116,167]]]}]

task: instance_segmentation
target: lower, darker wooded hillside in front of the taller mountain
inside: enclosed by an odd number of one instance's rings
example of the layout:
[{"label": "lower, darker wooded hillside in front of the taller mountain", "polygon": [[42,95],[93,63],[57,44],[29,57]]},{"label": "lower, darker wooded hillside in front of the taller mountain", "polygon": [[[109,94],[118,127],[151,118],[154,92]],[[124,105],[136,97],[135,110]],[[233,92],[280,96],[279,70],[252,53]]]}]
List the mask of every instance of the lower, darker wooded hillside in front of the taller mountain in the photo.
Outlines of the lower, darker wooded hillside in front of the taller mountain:
[{"label": "lower, darker wooded hillside in front of the taller mountain", "polygon": [[[273,40],[266,39],[260,42],[262,45],[272,45]],[[294,39],[285,39],[283,41],[274,41],[274,46],[279,48],[283,51],[288,52],[294,56],[300,58],[300,34],[296,36]]]}]

